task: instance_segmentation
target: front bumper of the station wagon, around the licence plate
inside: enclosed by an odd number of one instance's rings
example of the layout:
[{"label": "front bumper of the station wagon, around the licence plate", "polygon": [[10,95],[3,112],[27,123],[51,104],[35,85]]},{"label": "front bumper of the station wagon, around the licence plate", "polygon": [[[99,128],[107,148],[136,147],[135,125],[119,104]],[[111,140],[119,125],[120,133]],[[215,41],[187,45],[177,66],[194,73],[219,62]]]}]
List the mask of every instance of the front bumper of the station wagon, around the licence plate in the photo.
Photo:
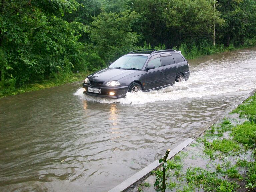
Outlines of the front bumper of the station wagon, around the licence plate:
[{"label": "front bumper of the station wagon, around the licence plate", "polygon": [[[101,93],[92,93],[88,91],[88,88],[95,88],[95,89],[100,89]],[[83,83],[83,91],[84,94],[86,95],[91,95],[95,97],[104,97],[104,98],[112,98],[112,99],[117,99],[117,98],[123,98],[126,96],[126,93],[128,92],[129,86],[120,86],[120,87],[94,87],[89,84]],[[110,92],[114,92],[114,95],[109,95]]]}]

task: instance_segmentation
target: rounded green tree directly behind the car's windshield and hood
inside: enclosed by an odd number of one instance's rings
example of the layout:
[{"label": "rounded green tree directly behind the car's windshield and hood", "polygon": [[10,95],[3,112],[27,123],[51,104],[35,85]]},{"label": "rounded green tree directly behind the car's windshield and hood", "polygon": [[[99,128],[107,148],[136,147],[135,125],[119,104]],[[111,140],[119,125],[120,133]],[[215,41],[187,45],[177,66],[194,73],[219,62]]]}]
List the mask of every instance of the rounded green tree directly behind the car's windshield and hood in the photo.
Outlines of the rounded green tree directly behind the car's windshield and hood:
[{"label": "rounded green tree directly behind the car's windshield and hood", "polygon": [[94,17],[89,35],[95,51],[104,61],[116,59],[133,49],[139,35],[132,32],[131,27],[138,18],[135,11],[102,12]]}]

